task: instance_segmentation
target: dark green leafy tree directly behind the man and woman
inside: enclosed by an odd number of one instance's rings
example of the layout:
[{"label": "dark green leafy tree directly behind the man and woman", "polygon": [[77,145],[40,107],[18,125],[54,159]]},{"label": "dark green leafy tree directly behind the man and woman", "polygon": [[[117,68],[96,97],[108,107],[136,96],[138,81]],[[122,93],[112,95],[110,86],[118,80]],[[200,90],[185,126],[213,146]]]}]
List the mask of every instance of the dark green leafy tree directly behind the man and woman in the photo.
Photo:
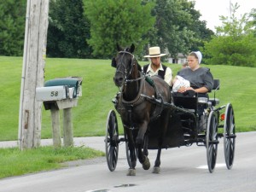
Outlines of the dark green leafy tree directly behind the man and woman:
[{"label": "dark green leafy tree directly behind the man and woman", "polygon": [[168,49],[173,57],[199,49],[213,32],[207,29],[206,21],[199,20],[201,15],[194,7],[195,2],[188,0],[156,0],[152,12],[156,22],[154,29],[148,32],[149,44]]}]

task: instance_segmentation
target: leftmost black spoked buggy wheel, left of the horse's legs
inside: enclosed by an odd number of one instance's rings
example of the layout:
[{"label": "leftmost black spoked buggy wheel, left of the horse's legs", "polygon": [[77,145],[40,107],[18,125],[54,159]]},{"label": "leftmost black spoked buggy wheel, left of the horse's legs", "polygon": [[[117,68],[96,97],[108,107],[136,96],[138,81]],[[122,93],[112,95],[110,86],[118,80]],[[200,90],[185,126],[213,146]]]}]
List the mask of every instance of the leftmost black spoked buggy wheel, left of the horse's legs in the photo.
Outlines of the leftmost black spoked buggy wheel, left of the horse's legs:
[{"label": "leftmost black spoked buggy wheel, left of the horse's legs", "polygon": [[119,130],[116,114],[113,110],[108,113],[105,138],[106,158],[110,172],[115,170],[119,155]]}]

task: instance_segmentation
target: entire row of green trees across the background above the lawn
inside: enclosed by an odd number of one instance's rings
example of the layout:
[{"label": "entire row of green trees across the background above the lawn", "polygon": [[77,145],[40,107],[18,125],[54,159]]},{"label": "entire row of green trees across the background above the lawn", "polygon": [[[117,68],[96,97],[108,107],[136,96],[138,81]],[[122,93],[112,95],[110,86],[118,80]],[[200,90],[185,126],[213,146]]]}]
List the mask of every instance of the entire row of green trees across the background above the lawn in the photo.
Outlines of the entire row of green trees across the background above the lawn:
[{"label": "entire row of green trees across the background above the lawn", "polygon": [[[143,60],[149,46],[177,62],[177,55],[201,50],[205,64],[255,67],[256,9],[237,17],[220,15],[216,32],[207,28],[189,0],[50,0],[47,55],[110,59],[118,43],[137,47]],[[16,9],[19,7],[19,9]],[[0,3],[0,55],[21,56],[26,0]]]}]

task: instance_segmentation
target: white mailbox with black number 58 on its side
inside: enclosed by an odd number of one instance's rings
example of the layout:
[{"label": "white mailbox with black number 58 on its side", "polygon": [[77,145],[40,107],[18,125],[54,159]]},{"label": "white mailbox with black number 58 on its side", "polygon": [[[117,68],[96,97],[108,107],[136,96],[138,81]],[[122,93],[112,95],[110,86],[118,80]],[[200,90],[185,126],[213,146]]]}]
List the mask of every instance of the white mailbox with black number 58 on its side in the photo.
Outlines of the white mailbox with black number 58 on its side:
[{"label": "white mailbox with black number 58 on its side", "polygon": [[67,99],[69,89],[67,86],[38,87],[36,98],[38,102],[59,101]]}]

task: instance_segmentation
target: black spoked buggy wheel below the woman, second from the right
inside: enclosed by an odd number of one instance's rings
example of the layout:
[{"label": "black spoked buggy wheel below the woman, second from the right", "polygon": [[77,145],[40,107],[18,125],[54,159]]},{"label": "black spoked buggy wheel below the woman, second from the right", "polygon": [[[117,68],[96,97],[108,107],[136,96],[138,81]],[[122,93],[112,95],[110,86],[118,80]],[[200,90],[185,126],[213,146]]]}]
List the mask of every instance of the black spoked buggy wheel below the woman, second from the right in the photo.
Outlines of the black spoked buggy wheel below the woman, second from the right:
[{"label": "black spoked buggy wheel below the woman, second from the right", "polygon": [[218,119],[216,113],[209,114],[207,123],[207,164],[209,172],[213,172],[218,152]]}]

